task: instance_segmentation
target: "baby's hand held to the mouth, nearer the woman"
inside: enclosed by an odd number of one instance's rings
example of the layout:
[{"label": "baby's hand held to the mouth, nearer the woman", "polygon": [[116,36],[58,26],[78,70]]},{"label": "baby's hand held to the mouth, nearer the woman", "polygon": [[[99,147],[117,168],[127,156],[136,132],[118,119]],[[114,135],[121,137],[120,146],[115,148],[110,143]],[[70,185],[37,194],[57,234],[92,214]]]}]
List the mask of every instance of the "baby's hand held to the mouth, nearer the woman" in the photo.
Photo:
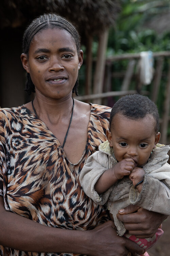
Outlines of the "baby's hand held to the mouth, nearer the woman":
[{"label": "baby's hand held to the mouth, nearer the woman", "polygon": [[130,175],[132,170],[135,168],[135,161],[128,157],[114,166],[114,173],[118,180],[122,179],[125,175]]}]

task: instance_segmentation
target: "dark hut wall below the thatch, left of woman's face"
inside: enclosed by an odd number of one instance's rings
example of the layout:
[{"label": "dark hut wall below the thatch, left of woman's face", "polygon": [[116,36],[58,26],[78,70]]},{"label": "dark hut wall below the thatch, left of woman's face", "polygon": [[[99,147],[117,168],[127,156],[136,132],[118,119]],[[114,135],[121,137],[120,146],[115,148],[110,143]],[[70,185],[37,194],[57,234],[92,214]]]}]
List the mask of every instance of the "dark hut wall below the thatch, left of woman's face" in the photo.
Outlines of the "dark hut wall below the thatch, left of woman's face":
[{"label": "dark hut wall below the thatch, left of woman's face", "polygon": [[0,105],[12,107],[25,103],[24,71],[20,60],[21,34],[14,28],[1,31],[0,40]]}]

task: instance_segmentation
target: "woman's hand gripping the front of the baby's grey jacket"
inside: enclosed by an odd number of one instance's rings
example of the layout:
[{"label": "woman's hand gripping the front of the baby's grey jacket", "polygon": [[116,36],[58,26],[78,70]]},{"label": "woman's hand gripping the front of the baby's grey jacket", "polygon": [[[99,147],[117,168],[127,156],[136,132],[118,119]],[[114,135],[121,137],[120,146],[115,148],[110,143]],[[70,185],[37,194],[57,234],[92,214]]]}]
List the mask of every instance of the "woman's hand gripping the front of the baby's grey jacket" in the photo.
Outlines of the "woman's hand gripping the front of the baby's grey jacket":
[{"label": "woman's hand gripping the front of the baby's grey jacket", "polygon": [[123,222],[129,234],[135,235],[137,238],[153,237],[167,217],[167,215],[148,211],[137,205],[129,205],[119,210],[117,214],[117,218]]}]

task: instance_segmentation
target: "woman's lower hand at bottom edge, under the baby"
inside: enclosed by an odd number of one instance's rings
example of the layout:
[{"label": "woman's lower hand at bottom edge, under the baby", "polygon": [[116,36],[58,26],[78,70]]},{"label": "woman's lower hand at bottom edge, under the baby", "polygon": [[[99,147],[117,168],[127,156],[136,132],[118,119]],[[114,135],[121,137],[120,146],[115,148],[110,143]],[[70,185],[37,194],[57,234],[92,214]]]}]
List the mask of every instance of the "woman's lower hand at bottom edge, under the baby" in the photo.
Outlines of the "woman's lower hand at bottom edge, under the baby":
[{"label": "woman's lower hand at bottom edge, under the baby", "polygon": [[87,253],[90,256],[123,256],[128,255],[128,252],[143,252],[143,249],[136,243],[125,237],[117,236],[112,221],[89,230],[87,233],[91,237]]}]

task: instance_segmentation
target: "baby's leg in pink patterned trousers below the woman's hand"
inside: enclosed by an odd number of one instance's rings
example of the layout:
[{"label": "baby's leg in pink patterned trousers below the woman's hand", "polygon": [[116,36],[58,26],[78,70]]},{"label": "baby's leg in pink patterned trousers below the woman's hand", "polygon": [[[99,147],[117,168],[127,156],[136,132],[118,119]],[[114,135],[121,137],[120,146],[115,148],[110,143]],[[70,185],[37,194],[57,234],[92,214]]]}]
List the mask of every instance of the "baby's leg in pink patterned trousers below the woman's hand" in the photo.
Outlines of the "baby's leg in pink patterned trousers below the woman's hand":
[{"label": "baby's leg in pink patterned trousers below the woman's hand", "polygon": [[[136,238],[135,236],[133,235],[130,235],[128,233],[125,233],[124,236],[129,238],[131,241],[137,243],[143,250],[147,250],[149,249],[150,247],[152,247],[156,242],[157,240],[163,235],[163,230],[158,228],[156,234],[151,237],[151,238]],[[135,256],[138,256],[138,255],[145,255],[145,256],[148,256],[149,254],[147,252],[145,252],[144,254],[132,254],[132,255],[135,255]],[[129,256],[129,255],[128,255]]]}]

